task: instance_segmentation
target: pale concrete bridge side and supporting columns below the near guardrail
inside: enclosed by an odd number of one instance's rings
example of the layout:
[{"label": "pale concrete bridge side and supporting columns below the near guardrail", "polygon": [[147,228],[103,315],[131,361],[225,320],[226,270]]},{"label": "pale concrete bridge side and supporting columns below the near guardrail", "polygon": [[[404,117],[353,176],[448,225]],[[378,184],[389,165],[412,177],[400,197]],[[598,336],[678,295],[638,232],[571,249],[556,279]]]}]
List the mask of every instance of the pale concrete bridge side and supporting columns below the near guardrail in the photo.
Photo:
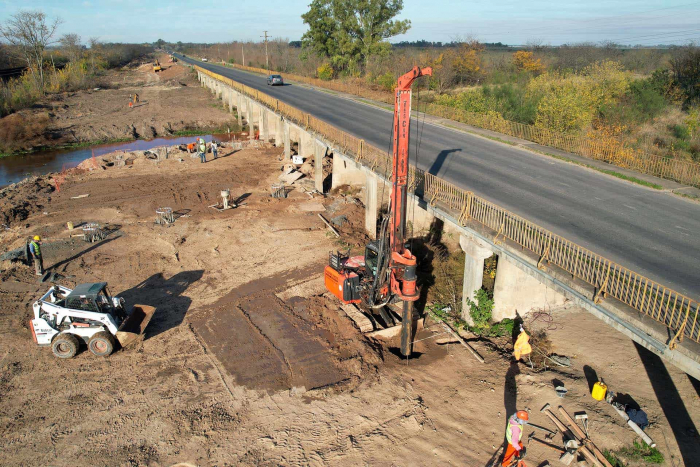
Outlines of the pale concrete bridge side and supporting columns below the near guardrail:
[{"label": "pale concrete bridge side and supporting columns below the near guardrail", "polygon": [[[307,124],[296,123],[290,118],[285,118],[276,111],[277,109],[269,106],[270,100],[267,100],[268,105],[265,105],[251,97],[250,93],[246,94],[204,72],[198,71],[198,77],[202,85],[222,99],[229,106],[229,109],[236,108],[239,123],[242,124],[243,119],[245,119],[251,128],[257,127],[261,140],[283,146],[285,158],[291,157],[293,145],[296,145],[297,151],[302,157],[314,158],[315,183],[316,189],[319,191],[324,190],[322,159],[327,154],[332,154],[333,171],[330,187],[355,185],[365,188],[366,227],[370,235],[376,234],[378,212],[382,203],[385,202],[385,200],[380,199],[380,193],[385,193],[387,197],[389,193],[388,189],[381,189],[382,184],[387,183],[385,174],[377,173],[358,161],[357,157],[349,154],[346,149],[339,147],[338,144],[323,135],[311,131],[308,122]],[[258,96],[260,95],[258,94]],[[294,110],[290,109],[288,112]],[[302,115],[303,113],[300,112],[298,118],[302,118]],[[254,138],[254,133],[251,131],[251,138]],[[522,161],[518,163],[522,163]],[[632,187],[629,188],[632,189]],[[670,196],[669,199],[671,199]],[[437,222],[445,232],[458,239],[459,246],[466,254],[463,281],[464,300],[472,297],[473,292],[481,287],[484,260],[493,254],[498,255],[494,289],[495,320],[514,318],[516,312],[523,316],[533,309],[542,308],[545,303],[549,306],[556,306],[570,300],[625,336],[700,379],[700,345],[697,342],[695,329],[697,324],[695,318],[696,302],[691,305],[691,302],[688,301],[685,315],[686,322],[688,317],[692,316],[690,332],[688,332],[685,323],[681,326],[678,321],[675,321],[674,329],[674,322],[664,324],[660,322],[658,317],[654,319],[653,313],[650,316],[648,313],[642,314],[634,306],[631,306],[629,301],[602,300],[606,295],[607,278],[604,280],[598,278],[595,282],[596,286],[592,285],[590,281],[580,280],[576,274],[571,274],[566,269],[548,266],[546,264],[548,249],[544,254],[534,254],[522,246],[504,241],[502,238],[499,239],[500,231],[494,232],[483,222],[464,219],[463,213],[455,211],[453,207],[444,203],[431,202],[434,200],[428,199],[421,193],[412,195],[410,201],[412,207],[409,208],[409,212],[412,212],[414,234],[427,231]],[[556,200],[553,202],[556,203]],[[687,204],[694,207],[690,203]],[[699,218],[700,216],[694,221]],[[545,225],[545,227],[547,226]],[[629,225],[626,227],[629,228]],[[494,234],[496,235],[494,236]],[[700,255],[695,256],[695,258],[697,257]],[[662,259],[659,257],[659,261]],[[693,259],[692,262],[694,265],[695,260]],[[696,266],[694,265],[694,267]],[[661,292],[660,301],[668,302],[664,294],[666,292]],[[638,292],[639,295],[642,295],[642,302],[644,302],[645,296],[648,295],[646,286],[644,293]],[[468,309],[468,307],[464,306],[463,309]],[[465,315],[464,318],[469,320],[468,315]],[[680,328],[680,332],[678,328]],[[683,340],[684,335],[689,335],[691,338]]]}]

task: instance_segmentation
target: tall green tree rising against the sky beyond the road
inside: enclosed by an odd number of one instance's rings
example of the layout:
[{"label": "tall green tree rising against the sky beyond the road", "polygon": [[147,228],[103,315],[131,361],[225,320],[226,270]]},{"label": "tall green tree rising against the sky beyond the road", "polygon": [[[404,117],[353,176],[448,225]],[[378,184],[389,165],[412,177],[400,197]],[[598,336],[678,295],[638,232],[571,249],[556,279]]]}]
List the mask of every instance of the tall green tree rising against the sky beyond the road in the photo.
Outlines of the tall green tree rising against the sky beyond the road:
[{"label": "tall green tree rising against the sky beyond the road", "polygon": [[309,30],[302,45],[330,60],[337,70],[363,71],[372,55],[388,55],[390,37],[411,27],[395,20],[403,0],[313,0],[301,15]]}]

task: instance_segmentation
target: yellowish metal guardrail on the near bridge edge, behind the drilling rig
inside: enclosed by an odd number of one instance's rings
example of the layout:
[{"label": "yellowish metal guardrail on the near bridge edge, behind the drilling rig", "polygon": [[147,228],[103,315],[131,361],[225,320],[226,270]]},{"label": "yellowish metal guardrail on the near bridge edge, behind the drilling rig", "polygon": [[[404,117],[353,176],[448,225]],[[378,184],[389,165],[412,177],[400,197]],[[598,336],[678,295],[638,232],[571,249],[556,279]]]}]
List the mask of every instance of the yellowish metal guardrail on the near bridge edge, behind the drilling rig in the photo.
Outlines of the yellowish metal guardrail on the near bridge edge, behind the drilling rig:
[{"label": "yellowish metal guardrail on the near bridge edge, behind the drilling rig", "polygon": [[[195,66],[195,69],[323,135],[344,154],[375,172],[390,174],[391,159],[385,151],[257,89],[199,66]],[[416,167],[410,168],[409,184],[417,195],[431,205],[439,204],[455,212],[455,217],[463,226],[469,221],[479,222],[497,232],[495,241],[508,239],[539,255],[538,267],[547,262],[592,285],[596,290],[594,302],[610,296],[664,324],[673,334],[669,343],[671,348],[684,337],[700,343],[700,304],[697,301]],[[503,240],[499,240],[501,238]]]}]

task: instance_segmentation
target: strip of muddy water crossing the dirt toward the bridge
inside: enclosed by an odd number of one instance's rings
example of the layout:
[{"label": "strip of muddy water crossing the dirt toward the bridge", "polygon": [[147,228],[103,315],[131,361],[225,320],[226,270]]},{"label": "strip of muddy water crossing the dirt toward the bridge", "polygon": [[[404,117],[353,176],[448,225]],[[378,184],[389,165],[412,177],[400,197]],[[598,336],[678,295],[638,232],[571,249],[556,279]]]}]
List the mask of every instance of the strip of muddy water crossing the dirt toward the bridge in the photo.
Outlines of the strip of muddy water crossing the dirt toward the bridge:
[{"label": "strip of muddy water crossing the dirt toward the bridge", "polygon": [[[156,138],[152,140],[136,140],[126,143],[100,144],[81,149],[58,151],[42,151],[24,156],[9,156],[0,158],[0,188],[19,182],[30,175],[44,175],[50,172],[60,172],[64,167],[75,167],[85,159],[108,154],[114,151],[144,151],[158,146],[173,146],[193,142],[196,136],[181,136],[172,138]],[[228,135],[205,135],[203,138],[210,142],[229,140]]]}]

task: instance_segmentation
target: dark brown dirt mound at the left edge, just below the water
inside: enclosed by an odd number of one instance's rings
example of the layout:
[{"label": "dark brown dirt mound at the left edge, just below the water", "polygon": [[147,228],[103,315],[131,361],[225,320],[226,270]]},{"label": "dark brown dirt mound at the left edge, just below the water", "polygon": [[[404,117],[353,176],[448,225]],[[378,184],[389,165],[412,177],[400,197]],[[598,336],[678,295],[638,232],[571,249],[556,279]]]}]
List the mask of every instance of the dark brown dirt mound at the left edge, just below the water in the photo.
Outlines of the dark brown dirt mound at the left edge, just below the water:
[{"label": "dark brown dirt mound at the left edge, just below the water", "polygon": [[9,227],[40,212],[55,188],[47,178],[32,177],[0,189],[0,223]]}]

